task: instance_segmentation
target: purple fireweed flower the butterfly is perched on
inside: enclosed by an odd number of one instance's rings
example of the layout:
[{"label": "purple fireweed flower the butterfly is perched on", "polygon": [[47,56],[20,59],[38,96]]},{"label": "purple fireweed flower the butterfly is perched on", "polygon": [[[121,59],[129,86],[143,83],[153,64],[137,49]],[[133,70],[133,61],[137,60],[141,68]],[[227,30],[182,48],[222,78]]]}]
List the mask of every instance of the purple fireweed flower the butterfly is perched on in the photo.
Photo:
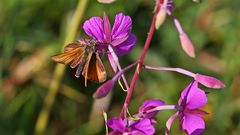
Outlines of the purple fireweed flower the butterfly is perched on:
[{"label": "purple fireweed flower the butterfly is perched on", "polygon": [[136,36],[131,33],[131,27],[131,18],[123,13],[115,16],[112,28],[106,14],[103,19],[92,17],[83,25],[87,35],[98,41],[98,50],[106,50],[108,60],[115,72],[117,68],[121,69],[117,57],[128,54],[135,46]]}]

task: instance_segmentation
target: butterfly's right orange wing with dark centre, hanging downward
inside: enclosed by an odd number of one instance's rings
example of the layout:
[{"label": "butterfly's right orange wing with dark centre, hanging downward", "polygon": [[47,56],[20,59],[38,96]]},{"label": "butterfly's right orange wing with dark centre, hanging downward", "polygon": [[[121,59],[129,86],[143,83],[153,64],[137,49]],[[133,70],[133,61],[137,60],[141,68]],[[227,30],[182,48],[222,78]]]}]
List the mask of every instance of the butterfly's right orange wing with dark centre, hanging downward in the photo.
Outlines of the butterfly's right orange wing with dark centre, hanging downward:
[{"label": "butterfly's right orange wing with dark centre, hanging downward", "polygon": [[86,79],[95,81],[95,82],[104,82],[107,78],[106,70],[103,66],[103,63],[96,53],[89,54],[88,60],[83,69],[83,76]]}]

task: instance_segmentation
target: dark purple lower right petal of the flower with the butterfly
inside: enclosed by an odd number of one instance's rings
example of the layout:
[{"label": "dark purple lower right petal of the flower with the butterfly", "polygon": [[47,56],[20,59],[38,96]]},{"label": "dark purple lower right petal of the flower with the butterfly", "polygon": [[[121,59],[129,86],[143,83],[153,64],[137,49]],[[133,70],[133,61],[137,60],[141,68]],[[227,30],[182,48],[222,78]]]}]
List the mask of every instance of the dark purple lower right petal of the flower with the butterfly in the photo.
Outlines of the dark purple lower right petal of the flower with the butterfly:
[{"label": "dark purple lower right petal of the flower with the butterfly", "polygon": [[118,56],[128,54],[135,46],[136,40],[137,40],[136,36],[133,34],[130,34],[126,41],[124,41],[123,43],[117,46],[113,46],[115,53]]}]

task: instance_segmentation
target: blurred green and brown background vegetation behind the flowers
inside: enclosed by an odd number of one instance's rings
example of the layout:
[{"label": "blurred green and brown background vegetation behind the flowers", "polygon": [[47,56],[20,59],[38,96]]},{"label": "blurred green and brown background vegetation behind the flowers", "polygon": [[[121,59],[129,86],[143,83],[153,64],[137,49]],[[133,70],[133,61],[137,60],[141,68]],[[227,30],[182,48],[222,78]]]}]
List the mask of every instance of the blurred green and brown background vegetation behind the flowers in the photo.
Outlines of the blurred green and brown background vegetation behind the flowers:
[{"label": "blurred green and brown background vegetation behind the flowers", "polygon": [[[81,1],[81,0],[80,0]],[[61,52],[68,35],[67,26],[78,5],[77,0],[1,0],[0,1],[0,134],[37,134],[35,126],[49,92],[56,63],[51,56]],[[210,92],[209,102],[203,109],[206,135],[240,134],[240,1],[203,0],[196,4],[191,0],[175,0],[173,13],[196,47],[196,58],[189,58],[181,49],[177,31],[171,18],[154,33],[148,65],[181,67],[192,72],[211,75],[222,80],[221,90],[202,89]],[[138,40],[134,50],[120,58],[121,65],[134,62],[139,57],[151,24],[154,0],[117,0],[113,4],[100,4],[88,0],[77,36],[85,37],[84,20],[92,16],[109,15],[113,24],[116,13],[132,17],[132,31]],[[71,25],[70,25],[71,27]],[[112,72],[106,58],[104,64]],[[126,73],[131,80],[134,69]],[[43,134],[88,135],[105,134],[102,116],[108,117],[121,111],[125,93],[120,86],[102,100],[94,100],[92,94],[100,84],[74,77],[75,70],[66,66],[53,106],[48,109],[49,118]],[[180,92],[192,78],[174,72],[142,70],[130,104],[131,114],[146,99],[156,98],[168,104],[176,104]],[[50,97],[51,98],[51,97]],[[158,114],[156,134],[164,134],[165,122],[174,111]],[[171,134],[179,131],[177,121]]]}]

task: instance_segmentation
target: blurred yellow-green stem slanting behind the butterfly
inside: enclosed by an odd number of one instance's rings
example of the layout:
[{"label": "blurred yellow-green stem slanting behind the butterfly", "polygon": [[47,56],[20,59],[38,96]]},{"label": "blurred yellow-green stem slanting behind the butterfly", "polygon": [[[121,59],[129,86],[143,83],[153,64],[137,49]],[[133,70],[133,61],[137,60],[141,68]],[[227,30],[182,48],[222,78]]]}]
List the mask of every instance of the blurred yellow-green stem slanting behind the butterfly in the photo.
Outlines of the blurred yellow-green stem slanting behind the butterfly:
[{"label": "blurred yellow-green stem slanting behind the butterfly", "polygon": [[[64,45],[73,42],[76,35],[77,35],[77,30],[79,27],[79,24],[82,20],[85,8],[87,6],[88,0],[79,0],[77,9],[73,15],[72,20],[70,21],[68,28],[67,28],[67,35],[65,38]],[[48,118],[49,118],[49,113],[51,112],[51,108],[54,104],[56,95],[59,90],[60,82],[64,73],[65,66],[64,65],[56,65],[54,69],[54,75],[53,79],[49,85],[49,90],[48,93],[45,97],[44,103],[43,103],[43,108],[41,112],[38,115],[37,122],[35,125],[35,134],[36,135],[42,135],[44,134],[44,131],[46,129],[47,123],[48,123]]]}]

